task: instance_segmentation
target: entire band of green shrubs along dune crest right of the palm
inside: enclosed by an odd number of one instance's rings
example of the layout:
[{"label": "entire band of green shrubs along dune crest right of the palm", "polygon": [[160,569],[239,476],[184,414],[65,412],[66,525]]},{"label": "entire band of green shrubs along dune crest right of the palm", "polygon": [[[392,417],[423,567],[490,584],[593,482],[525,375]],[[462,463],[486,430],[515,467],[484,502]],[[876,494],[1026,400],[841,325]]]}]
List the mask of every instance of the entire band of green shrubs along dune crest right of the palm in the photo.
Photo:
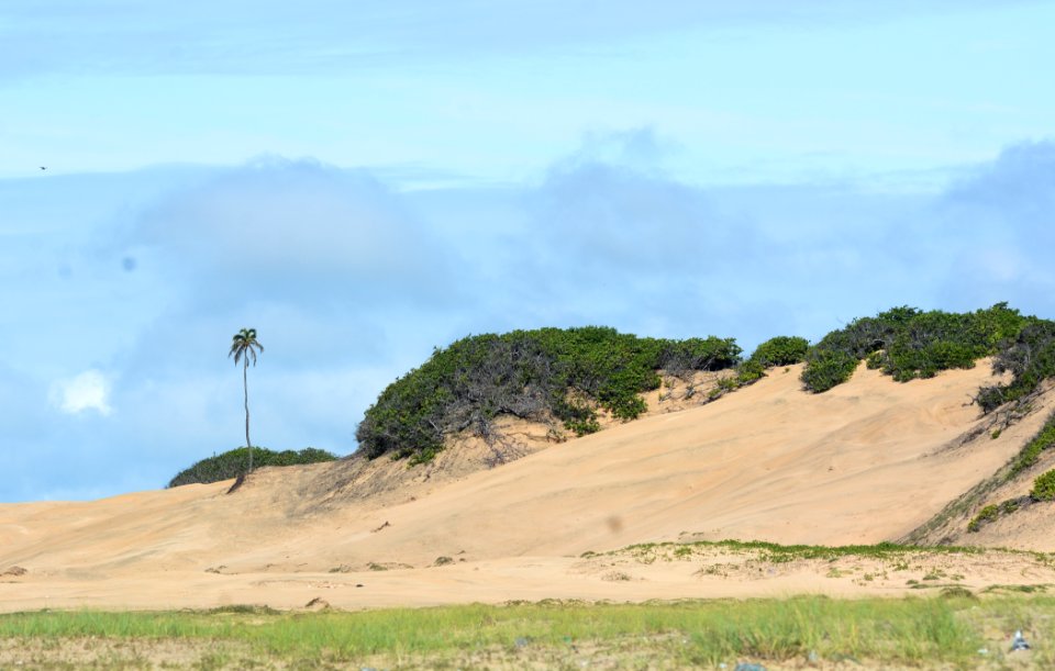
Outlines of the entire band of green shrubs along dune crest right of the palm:
[{"label": "entire band of green shrubs along dune crest right of the palm", "polygon": [[778,336],[746,360],[740,355],[733,338],[669,340],[599,326],[469,336],[437,348],[389,384],[356,438],[368,458],[423,462],[463,432],[490,440],[501,415],[556,421],[581,436],[600,428],[599,410],[624,421],[645,412],[641,394],[660,384],[660,370],[733,370],[706,398],[714,400],[760,379],[767,368],[802,361],[804,389],[820,393],[848,380],[862,360],[906,382],[991,356],[996,372],[1012,376],[979,390],[978,403],[990,412],[1055,376],[1055,322],[1023,316],[1006,303],[967,313],[901,306],[854,320],[812,346]]}]

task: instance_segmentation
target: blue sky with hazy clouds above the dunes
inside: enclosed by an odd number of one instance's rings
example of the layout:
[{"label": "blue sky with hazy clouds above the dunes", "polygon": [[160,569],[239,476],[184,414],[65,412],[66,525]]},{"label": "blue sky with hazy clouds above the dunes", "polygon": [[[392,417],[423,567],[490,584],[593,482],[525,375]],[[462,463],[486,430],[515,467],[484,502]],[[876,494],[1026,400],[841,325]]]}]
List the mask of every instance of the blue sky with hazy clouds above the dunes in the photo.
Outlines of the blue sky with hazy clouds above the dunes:
[{"label": "blue sky with hazy clouds above the dunes", "polygon": [[469,334],[1055,317],[1055,2],[0,0],[0,502],[356,449]]}]

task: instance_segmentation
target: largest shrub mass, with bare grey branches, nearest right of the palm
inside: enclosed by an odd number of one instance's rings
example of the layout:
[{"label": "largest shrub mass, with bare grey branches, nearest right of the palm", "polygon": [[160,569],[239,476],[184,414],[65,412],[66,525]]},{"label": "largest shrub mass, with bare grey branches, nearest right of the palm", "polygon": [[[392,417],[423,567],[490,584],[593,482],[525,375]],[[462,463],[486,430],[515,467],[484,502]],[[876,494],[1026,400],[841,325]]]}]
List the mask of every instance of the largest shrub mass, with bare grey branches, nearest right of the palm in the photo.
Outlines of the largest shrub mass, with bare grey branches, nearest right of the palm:
[{"label": "largest shrub mass, with bare grey branches, nearest right of the palm", "polygon": [[595,406],[622,420],[645,411],[638,394],[658,370],[723,370],[740,360],[732,338],[640,338],[613,328],[541,328],[479,335],[436,349],[366,411],[356,438],[369,458],[427,461],[466,429],[489,437],[499,415],[554,416],[578,434],[599,428]]}]

